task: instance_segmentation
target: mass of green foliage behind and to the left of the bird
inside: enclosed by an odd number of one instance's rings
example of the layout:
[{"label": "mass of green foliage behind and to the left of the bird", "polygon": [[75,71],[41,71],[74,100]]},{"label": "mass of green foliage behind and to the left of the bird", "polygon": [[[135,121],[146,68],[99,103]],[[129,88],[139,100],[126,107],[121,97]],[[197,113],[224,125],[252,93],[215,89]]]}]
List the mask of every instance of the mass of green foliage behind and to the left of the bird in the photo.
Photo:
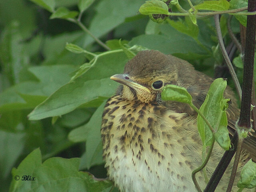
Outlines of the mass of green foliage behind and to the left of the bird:
[{"label": "mass of green foliage behind and to the left of the bird", "polygon": [[[138,51],[173,54],[214,76],[223,59],[213,18],[202,18],[202,10],[224,13],[247,1],[166,2],[0,1],[0,190],[110,190],[110,181],[88,172],[106,177],[101,114],[118,86],[109,77]],[[220,25],[230,44],[227,20],[223,14]],[[246,16],[232,17],[234,34],[239,22],[246,25]],[[241,79],[242,59],[235,56]],[[37,181],[16,181],[16,175]]]}]

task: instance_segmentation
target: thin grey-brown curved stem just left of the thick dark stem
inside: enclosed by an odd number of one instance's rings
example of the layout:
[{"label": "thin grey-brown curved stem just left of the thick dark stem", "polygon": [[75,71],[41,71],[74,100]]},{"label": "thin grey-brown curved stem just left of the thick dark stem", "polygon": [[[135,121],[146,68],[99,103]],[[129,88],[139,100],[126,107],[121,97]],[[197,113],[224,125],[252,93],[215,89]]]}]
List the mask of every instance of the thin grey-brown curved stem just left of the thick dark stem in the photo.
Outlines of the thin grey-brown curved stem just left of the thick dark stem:
[{"label": "thin grey-brown curved stem just left of the thick dark stem", "polygon": [[232,76],[232,79],[234,81],[235,87],[236,87],[236,91],[238,92],[238,96],[241,100],[242,98],[242,90],[238,81],[238,78],[236,76],[236,72],[232,66],[232,63],[228,57],[228,53],[226,52],[226,48],[224,46],[224,42],[223,42],[223,38],[222,38],[222,34],[221,34],[221,30],[220,30],[220,20],[219,20],[219,15],[214,15],[214,20],[215,20],[215,27],[216,27],[216,31],[217,31],[217,36],[218,36],[218,40],[220,43],[220,49],[222,51],[222,55],[226,61],[226,64],[228,66],[229,72]]}]

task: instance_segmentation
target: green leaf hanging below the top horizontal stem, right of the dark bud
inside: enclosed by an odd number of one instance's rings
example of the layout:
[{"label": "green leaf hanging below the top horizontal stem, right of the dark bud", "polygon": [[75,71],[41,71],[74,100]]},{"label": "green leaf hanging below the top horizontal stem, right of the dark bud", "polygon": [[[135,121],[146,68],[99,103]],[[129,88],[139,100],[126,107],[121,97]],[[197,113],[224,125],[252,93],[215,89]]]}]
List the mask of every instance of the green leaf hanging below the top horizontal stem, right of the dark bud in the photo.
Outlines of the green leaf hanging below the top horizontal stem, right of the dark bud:
[{"label": "green leaf hanging below the top horizontal stem, right of the dark bud", "polygon": [[189,16],[185,16],[185,22],[182,20],[174,21],[170,19],[167,19],[167,22],[179,32],[191,36],[194,39],[198,38],[199,28],[191,21]]}]

